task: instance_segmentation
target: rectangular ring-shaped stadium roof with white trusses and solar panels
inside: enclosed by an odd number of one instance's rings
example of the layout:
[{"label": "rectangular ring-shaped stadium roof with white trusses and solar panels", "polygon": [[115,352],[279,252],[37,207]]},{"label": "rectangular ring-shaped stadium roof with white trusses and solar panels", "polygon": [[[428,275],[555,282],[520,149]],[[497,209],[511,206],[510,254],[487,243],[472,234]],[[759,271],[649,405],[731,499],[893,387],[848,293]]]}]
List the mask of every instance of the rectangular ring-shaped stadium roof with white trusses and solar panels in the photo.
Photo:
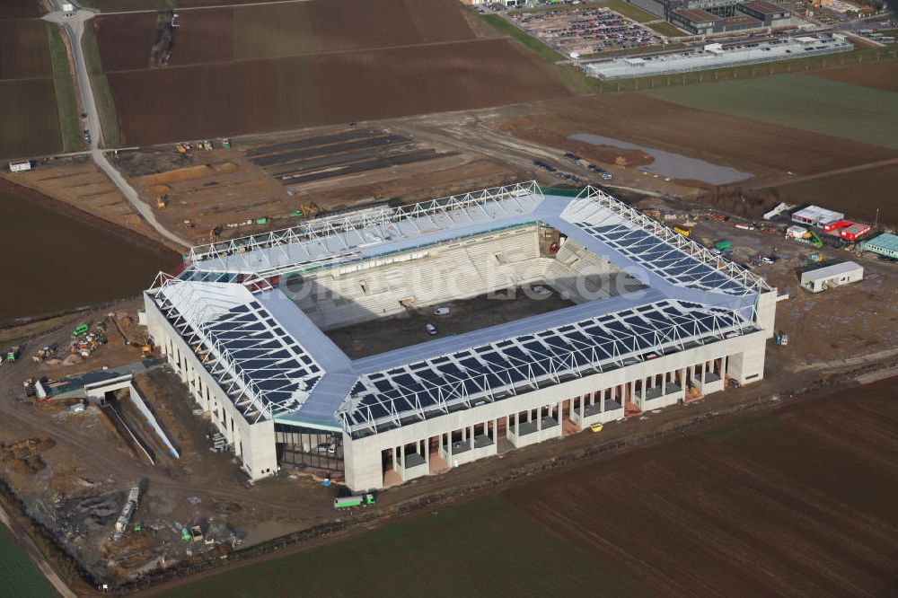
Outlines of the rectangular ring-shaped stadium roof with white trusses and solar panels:
[{"label": "rectangular ring-shaped stadium roof with white trusses and solar panels", "polygon": [[[516,224],[648,288],[352,361],[269,279]],[[242,249],[241,249],[242,248]],[[365,434],[754,329],[760,277],[606,195],[535,183],[194,248],[148,293],[249,421]],[[269,277],[269,278],[266,278]]]}]

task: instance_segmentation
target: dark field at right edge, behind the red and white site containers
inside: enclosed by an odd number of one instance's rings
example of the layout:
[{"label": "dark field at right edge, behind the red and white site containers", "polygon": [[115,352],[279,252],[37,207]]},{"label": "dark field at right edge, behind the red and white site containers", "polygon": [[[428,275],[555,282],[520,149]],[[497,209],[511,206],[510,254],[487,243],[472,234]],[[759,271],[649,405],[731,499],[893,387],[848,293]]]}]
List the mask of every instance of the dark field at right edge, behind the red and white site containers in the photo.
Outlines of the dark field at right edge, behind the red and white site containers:
[{"label": "dark field at right edge, behind the red and white site containers", "polygon": [[895,207],[893,199],[895,189],[898,189],[898,164],[834,174],[776,188],[779,197],[790,204],[813,203],[871,224],[876,218],[876,208],[879,208],[880,223],[898,224],[898,207]]}]

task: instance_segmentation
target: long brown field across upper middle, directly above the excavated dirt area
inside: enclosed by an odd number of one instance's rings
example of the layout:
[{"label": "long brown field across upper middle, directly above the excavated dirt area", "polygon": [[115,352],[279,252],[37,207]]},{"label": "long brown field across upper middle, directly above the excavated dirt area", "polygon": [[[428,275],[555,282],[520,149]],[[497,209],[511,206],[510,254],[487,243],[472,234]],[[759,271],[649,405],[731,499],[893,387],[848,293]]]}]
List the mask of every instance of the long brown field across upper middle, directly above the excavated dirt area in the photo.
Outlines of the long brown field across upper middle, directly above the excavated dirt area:
[{"label": "long brown field across upper middle, directly above the excavated dirt area", "polygon": [[109,81],[126,145],[568,95],[508,40],[145,69]]}]

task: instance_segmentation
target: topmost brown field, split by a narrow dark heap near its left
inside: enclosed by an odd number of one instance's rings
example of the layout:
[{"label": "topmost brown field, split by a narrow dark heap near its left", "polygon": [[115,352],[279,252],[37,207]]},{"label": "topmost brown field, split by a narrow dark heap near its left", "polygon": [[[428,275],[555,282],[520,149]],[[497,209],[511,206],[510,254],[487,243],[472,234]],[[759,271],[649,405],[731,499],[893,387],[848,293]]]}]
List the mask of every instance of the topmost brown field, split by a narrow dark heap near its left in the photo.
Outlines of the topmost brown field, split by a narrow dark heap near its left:
[{"label": "topmost brown field, split by a narrow dark heap near its left", "polygon": [[[182,11],[169,64],[274,58],[471,40],[454,0],[312,0]],[[154,13],[95,19],[107,71],[145,68]]]}]

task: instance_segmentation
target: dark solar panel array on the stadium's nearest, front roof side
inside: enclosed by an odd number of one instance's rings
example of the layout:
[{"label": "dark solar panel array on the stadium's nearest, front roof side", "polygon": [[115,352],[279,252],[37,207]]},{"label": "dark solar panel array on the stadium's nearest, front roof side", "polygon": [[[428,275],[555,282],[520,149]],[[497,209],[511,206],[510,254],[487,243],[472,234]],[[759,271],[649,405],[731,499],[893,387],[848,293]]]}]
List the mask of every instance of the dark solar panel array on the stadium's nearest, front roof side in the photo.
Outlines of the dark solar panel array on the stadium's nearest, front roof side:
[{"label": "dark solar panel array on the stadium's nearest, front roof side", "polygon": [[403,418],[448,412],[453,404],[559,383],[625,360],[650,359],[666,347],[740,333],[751,326],[731,310],[665,300],[465,348],[361,376],[340,415],[348,429],[398,425]]}]

